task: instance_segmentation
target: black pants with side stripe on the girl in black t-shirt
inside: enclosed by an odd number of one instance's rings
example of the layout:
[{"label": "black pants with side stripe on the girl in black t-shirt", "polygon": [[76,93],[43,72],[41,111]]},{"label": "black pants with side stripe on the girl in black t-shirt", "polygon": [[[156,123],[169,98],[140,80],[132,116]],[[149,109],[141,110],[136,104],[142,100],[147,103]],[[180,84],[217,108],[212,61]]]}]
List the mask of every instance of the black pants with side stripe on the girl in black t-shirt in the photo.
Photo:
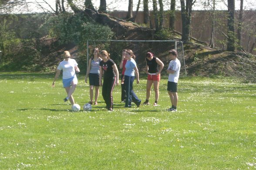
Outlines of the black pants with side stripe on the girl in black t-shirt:
[{"label": "black pants with side stripe on the girl in black t-shirt", "polygon": [[104,78],[102,85],[102,97],[105,100],[107,109],[113,109],[113,96],[112,91],[115,87],[115,77]]}]

